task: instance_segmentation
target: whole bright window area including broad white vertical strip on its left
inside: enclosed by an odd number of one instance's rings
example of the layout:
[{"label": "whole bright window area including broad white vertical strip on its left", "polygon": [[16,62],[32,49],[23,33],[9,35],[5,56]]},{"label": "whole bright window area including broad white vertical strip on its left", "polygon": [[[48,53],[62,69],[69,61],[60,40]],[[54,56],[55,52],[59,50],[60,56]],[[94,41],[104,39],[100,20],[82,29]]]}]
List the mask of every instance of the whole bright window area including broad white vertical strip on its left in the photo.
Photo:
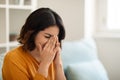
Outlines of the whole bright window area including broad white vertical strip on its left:
[{"label": "whole bright window area including broad white vertical strip on its left", "polygon": [[85,0],[85,37],[120,38],[120,0]]}]

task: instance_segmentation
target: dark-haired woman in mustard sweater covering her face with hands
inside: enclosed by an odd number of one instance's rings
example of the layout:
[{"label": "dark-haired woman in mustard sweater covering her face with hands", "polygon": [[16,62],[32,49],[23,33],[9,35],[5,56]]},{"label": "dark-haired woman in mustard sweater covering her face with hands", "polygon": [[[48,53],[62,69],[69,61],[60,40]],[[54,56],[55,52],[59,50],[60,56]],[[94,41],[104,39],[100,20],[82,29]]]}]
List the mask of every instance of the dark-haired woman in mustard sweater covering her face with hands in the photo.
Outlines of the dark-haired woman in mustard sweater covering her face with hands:
[{"label": "dark-haired woman in mustard sweater covering her face with hands", "polygon": [[4,58],[3,80],[66,80],[61,57],[65,30],[60,16],[40,8],[27,18],[18,41],[21,46]]}]

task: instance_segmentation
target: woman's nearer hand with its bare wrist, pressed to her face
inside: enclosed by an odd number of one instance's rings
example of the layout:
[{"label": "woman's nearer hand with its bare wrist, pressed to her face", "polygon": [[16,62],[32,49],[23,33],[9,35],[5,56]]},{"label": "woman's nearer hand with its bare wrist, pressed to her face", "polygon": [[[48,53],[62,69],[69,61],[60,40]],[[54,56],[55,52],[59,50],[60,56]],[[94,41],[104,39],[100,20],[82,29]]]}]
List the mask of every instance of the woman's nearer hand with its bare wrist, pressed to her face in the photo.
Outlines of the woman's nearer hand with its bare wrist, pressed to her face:
[{"label": "woman's nearer hand with its bare wrist, pressed to her face", "polygon": [[41,45],[39,45],[41,61],[38,72],[45,77],[47,77],[48,75],[49,66],[53,62],[58,50],[57,47],[55,47],[56,41],[57,41],[56,37],[51,37],[43,49],[41,49]]}]

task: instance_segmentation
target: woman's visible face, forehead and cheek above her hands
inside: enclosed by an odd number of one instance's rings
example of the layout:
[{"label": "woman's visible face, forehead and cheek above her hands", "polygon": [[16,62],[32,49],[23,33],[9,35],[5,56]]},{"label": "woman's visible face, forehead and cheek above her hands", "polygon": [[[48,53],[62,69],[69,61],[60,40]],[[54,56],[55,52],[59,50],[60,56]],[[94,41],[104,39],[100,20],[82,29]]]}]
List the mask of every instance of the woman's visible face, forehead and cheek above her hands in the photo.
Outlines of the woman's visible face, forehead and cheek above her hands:
[{"label": "woman's visible face, forehead and cheek above her hands", "polygon": [[49,26],[43,31],[38,32],[35,38],[36,47],[40,44],[43,48],[46,42],[50,39],[50,37],[57,36],[59,34],[59,28],[57,26]]}]

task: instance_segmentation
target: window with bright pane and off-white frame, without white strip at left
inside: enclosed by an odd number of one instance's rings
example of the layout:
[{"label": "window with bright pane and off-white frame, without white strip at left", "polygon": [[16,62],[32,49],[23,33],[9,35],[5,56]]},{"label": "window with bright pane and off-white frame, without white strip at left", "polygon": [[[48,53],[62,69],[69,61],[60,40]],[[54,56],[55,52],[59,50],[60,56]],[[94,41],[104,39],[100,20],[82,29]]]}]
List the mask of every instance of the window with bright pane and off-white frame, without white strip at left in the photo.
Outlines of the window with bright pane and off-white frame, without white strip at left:
[{"label": "window with bright pane and off-white frame, without white strip at left", "polygon": [[94,36],[120,38],[120,0],[95,1]]}]

